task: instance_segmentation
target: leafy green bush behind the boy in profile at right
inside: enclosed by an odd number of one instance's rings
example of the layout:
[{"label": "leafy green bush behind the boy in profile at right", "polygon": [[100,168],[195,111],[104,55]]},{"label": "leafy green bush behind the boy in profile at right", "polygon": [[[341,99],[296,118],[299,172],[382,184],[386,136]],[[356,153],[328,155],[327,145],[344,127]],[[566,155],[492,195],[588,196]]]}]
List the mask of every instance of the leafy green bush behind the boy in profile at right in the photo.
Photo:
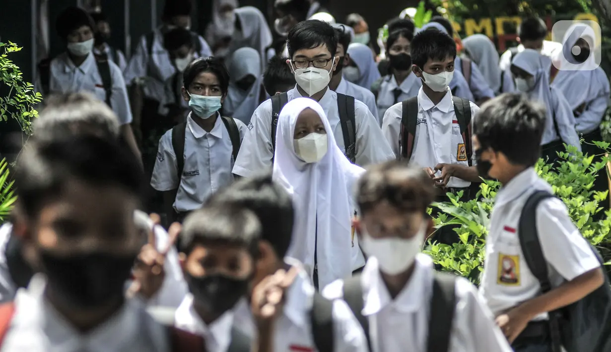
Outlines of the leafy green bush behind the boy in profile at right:
[{"label": "leafy green bush behind the boy in profile at right", "polygon": [[[609,143],[595,142],[602,149],[609,150]],[[611,212],[606,212],[602,220],[595,220],[595,215],[602,211],[601,202],[607,201],[607,193],[592,190],[594,181],[607,160],[593,162],[595,156],[587,156],[568,146],[566,153],[559,153],[562,161],[557,167],[543,162],[535,166],[541,178],[552,185],[554,194],[565,202],[571,219],[586,239],[597,246],[602,256],[611,264]],[[435,203],[441,210],[434,219],[437,228],[447,225],[459,225],[454,231],[459,242],[444,245],[429,242],[425,253],[433,257],[435,264],[444,271],[469,278],[474,284],[479,283],[483,270],[486,236],[494,198],[500,184],[496,181],[485,181],[480,185],[478,199],[464,202],[459,198],[462,193],[448,193],[450,202]]]}]

